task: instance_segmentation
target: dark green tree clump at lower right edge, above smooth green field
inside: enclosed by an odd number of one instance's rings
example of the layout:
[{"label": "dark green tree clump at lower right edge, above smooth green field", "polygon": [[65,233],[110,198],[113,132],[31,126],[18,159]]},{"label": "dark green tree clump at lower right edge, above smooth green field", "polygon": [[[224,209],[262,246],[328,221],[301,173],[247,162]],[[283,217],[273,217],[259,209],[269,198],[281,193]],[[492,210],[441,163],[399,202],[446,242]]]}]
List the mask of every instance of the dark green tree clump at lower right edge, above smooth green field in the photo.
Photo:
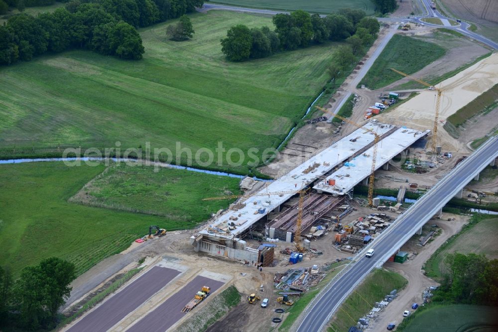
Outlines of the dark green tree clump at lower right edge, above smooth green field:
[{"label": "dark green tree clump at lower right edge, above smooth green field", "polygon": [[445,257],[444,266],[433,302],[498,306],[498,259],[456,252]]}]

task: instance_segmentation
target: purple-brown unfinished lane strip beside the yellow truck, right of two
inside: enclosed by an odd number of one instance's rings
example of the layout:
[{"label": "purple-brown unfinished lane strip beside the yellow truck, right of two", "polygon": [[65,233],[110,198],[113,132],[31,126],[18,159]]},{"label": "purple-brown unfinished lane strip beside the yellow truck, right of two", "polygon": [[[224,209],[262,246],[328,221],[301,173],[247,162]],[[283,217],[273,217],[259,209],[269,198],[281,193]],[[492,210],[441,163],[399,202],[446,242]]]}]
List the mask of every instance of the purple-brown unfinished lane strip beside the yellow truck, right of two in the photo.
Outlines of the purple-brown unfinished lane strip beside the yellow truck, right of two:
[{"label": "purple-brown unfinished lane strip beside the yellow truck, right of two", "polygon": [[198,310],[198,307],[196,307],[192,309],[190,313],[181,312],[183,307],[185,307],[185,305],[194,298],[194,295],[201,290],[202,286],[211,287],[212,294],[224,284],[225,283],[221,281],[197,276],[175,294],[171,295],[166,301],[159,305],[159,307],[126,330],[126,332],[166,331],[183,316],[191,315],[192,312]]}]

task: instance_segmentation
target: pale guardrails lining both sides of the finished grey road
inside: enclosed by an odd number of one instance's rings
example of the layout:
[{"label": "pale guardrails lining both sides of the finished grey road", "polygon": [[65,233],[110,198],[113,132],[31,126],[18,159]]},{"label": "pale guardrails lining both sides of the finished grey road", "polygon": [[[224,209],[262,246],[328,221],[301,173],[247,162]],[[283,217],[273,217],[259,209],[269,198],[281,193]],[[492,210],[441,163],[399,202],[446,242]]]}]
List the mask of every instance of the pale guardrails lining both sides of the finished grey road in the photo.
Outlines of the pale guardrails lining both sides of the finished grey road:
[{"label": "pale guardrails lining both sides of the finished grey road", "polygon": [[[479,147],[478,150],[476,150],[475,153],[473,153],[472,155],[470,155],[468,158],[466,158],[464,161],[462,161],[457,167],[455,167],[452,171],[448,172],[447,174],[445,174],[425,195],[423,195],[422,197],[420,197],[419,199],[417,199],[417,201],[415,203],[413,203],[406,211],[404,211],[402,213],[401,216],[399,216],[385,231],[383,231],[382,233],[380,233],[379,236],[377,236],[373,241],[371,241],[368,245],[366,245],[365,247],[362,248],[362,250],[358,251],[357,254],[353,257],[353,259],[351,260],[351,262],[344,268],[341,270],[341,272],[339,272],[336,276],[334,276],[334,278],[332,278],[332,280],[327,284],[327,286],[325,286],[321,291],[320,293],[318,293],[318,295],[308,304],[308,306],[305,308],[305,310],[303,311],[303,314],[304,316],[302,316],[302,318],[300,319],[300,322],[302,323],[303,319],[309,314],[309,312],[316,306],[316,304],[318,302],[320,302],[320,300],[322,300],[323,296],[325,295],[326,292],[328,292],[333,286],[334,284],[346,273],[348,272],[353,266],[354,264],[356,263],[356,261],[362,257],[363,255],[365,255],[366,251],[369,250],[370,248],[372,248],[375,244],[377,244],[379,241],[381,241],[383,238],[385,238],[385,236],[387,236],[387,234],[389,234],[390,232],[392,232],[392,230],[394,228],[396,228],[404,219],[406,219],[409,214],[410,214],[410,211],[416,209],[418,207],[418,205],[422,204],[422,202],[426,201],[427,199],[430,199],[432,198],[432,194],[431,192],[433,191],[436,191],[438,187],[442,186],[445,182],[447,182],[451,177],[452,177],[452,174],[455,173],[455,172],[458,172],[458,170],[462,167],[465,167],[467,164],[469,163],[472,163],[472,160],[474,160],[476,158],[476,156],[478,155],[478,152],[482,149],[485,149],[486,147],[488,147],[489,145],[493,144],[493,143],[496,143],[497,141],[497,136],[493,136],[491,137],[489,140],[487,140],[485,143],[483,143],[481,145],[481,147]],[[496,156],[495,156],[496,158]],[[491,160],[492,161],[492,160]],[[490,162],[491,162],[490,161]],[[489,163],[488,163],[489,164]],[[483,166],[483,168],[486,167],[486,165]],[[482,168],[482,169],[483,169]],[[480,171],[482,171],[482,169],[480,169],[479,171],[477,171],[477,169],[479,168],[476,168],[476,171],[475,172],[472,172],[472,173],[469,173],[471,175],[468,175],[465,179],[468,181],[470,181],[473,177],[476,176],[477,173],[479,173]],[[464,183],[464,181],[462,181],[462,183]],[[465,182],[465,183],[468,183],[468,182]],[[462,188],[459,188],[459,187],[456,187],[453,191],[452,191],[452,194],[449,195],[449,199],[451,199],[451,197],[453,197],[459,190],[461,190]],[[448,199],[448,200],[449,200]],[[446,204],[447,202],[445,202],[444,204]],[[444,205],[443,204],[443,205]],[[422,227],[426,222],[427,220],[430,219],[430,217],[432,217],[434,214],[436,214],[436,212],[440,209],[441,207],[435,207],[434,209],[432,209],[431,211],[429,211],[426,216],[428,216],[425,220],[422,219],[419,223],[416,224],[415,227],[412,228],[413,229],[418,229],[420,227]],[[373,266],[371,269],[369,269],[367,271],[367,273],[365,273],[363,276],[361,276],[358,281],[355,283],[354,287],[355,288],[364,278],[365,276],[367,276],[370,271],[372,271],[372,269],[374,267],[376,268],[379,268],[381,267],[386,261],[387,259],[392,255],[392,253],[394,251],[396,251],[397,249],[399,249],[403,243],[405,243],[413,234],[411,234],[411,232],[407,232],[405,236],[403,236],[403,238],[401,240],[399,240],[395,246],[393,246],[393,249],[391,251],[389,251],[388,253],[386,253],[385,255],[382,256],[381,259],[378,260],[378,263]],[[398,246],[399,245],[399,246]],[[351,290],[350,290],[351,291]],[[325,324],[327,324],[327,322],[330,320],[330,318],[332,317],[332,315],[334,314],[334,312],[337,310],[337,308],[339,307],[339,305],[345,300],[345,298],[349,295],[349,292],[345,294],[345,296],[334,306],[334,308],[331,310],[330,314],[328,315],[327,319],[325,320],[325,322],[321,325],[320,329],[319,330],[322,330],[323,329],[323,326]]]}]

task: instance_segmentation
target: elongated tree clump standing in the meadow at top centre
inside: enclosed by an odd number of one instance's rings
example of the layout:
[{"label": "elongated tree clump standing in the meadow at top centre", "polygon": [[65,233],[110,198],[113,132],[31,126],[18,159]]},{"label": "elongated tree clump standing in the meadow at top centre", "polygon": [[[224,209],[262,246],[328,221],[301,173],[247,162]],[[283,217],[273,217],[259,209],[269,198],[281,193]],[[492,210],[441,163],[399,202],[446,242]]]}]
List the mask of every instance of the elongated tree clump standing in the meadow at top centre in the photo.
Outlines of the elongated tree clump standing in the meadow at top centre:
[{"label": "elongated tree clump standing in the meadow at top centre", "polygon": [[327,40],[346,40],[353,55],[375,40],[380,25],[360,9],[341,9],[338,13],[320,17],[304,10],[276,14],[269,27],[251,28],[244,24],[232,26],[221,39],[222,52],[231,61],[262,58],[279,51],[294,50]]}]

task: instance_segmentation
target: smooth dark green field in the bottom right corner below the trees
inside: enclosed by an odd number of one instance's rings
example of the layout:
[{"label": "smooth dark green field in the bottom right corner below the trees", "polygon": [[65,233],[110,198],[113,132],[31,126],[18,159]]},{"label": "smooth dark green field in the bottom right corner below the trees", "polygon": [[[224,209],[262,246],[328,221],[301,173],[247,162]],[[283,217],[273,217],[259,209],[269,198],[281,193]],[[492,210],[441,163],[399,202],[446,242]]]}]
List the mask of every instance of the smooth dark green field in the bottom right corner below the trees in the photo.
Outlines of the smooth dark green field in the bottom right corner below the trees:
[{"label": "smooth dark green field in the bottom right corner below the trees", "polygon": [[425,310],[420,309],[414,315],[404,319],[402,326],[398,326],[396,331],[491,332],[498,329],[497,308],[472,305],[431,305]]}]

